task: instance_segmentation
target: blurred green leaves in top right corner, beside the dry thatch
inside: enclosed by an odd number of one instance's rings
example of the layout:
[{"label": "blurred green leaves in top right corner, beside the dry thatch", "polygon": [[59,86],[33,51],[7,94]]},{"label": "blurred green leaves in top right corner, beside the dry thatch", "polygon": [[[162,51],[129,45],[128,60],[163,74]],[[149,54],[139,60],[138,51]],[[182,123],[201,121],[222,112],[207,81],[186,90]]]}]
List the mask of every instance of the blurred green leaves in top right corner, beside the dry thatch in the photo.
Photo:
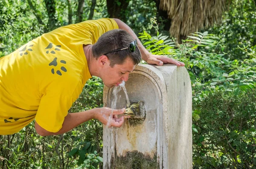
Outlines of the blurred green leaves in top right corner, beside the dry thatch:
[{"label": "blurred green leaves in top right corner, beside the dry thatch", "polygon": [[245,59],[245,53],[237,46],[248,46],[250,53],[256,52],[256,2],[255,0],[233,0],[230,10],[223,15],[221,25],[209,28],[208,31],[221,37],[217,51],[224,49],[226,58]]}]

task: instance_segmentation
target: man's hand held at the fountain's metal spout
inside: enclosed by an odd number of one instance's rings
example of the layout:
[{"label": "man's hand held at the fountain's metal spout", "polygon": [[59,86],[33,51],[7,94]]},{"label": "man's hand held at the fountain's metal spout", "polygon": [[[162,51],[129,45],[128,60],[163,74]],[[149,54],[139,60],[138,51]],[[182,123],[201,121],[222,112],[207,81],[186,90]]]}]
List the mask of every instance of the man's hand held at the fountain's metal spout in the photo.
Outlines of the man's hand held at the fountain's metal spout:
[{"label": "man's hand held at the fountain's metal spout", "polygon": [[119,109],[119,110],[110,109],[107,107],[96,108],[95,119],[99,120],[100,122],[102,122],[105,125],[108,124],[108,120],[110,119],[108,127],[111,127],[111,126],[121,127],[122,124],[124,123],[124,119],[127,117],[122,116],[122,117],[118,118],[117,115],[120,115],[124,112],[125,112],[125,108]]}]

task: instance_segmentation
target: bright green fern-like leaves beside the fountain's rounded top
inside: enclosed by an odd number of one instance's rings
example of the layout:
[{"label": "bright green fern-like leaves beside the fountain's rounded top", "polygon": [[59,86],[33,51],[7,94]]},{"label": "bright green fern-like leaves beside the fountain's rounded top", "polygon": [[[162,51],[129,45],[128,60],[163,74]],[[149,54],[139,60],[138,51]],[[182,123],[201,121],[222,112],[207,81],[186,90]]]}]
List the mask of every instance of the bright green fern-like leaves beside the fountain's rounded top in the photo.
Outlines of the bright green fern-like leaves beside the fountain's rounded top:
[{"label": "bright green fern-like leaves beside the fountain's rounded top", "polygon": [[[201,99],[203,90],[214,92],[218,89],[239,92],[239,89],[256,87],[256,58],[246,60],[225,59],[225,53],[216,53],[218,37],[208,32],[196,32],[183,40],[182,44],[158,32],[158,25],[153,19],[152,24],[157,36],[151,37],[147,32],[140,33],[141,40],[152,54],[167,55],[183,61],[192,81],[193,99]],[[241,49],[241,48],[240,48]],[[246,48],[243,48],[246,51]]]}]

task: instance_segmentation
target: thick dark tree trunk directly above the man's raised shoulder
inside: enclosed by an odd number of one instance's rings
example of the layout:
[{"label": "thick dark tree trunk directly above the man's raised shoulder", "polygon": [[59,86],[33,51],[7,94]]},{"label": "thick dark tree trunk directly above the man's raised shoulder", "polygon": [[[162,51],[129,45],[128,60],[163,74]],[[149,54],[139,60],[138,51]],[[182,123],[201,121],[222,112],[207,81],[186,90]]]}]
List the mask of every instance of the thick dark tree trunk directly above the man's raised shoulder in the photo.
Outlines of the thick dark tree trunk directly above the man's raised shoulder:
[{"label": "thick dark tree trunk directly above the man's raised shoulder", "polygon": [[117,18],[123,22],[127,21],[126,9],[130,0],[107,0],[108,14],[110,18]]}]

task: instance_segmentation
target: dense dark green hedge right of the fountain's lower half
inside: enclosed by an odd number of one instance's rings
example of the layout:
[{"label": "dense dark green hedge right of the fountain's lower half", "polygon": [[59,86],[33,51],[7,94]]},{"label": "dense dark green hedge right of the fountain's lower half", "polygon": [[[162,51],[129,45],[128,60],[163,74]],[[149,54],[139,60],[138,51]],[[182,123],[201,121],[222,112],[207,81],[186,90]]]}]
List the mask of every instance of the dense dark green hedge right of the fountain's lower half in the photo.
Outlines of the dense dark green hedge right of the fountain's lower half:
[{"label": "dense dark green hedge right of the fountain's lower half", "polygon": [[194,168],[254,168],[256,90],[240,95],[219,90],[204,95],[203,101],[193,103]]}]

